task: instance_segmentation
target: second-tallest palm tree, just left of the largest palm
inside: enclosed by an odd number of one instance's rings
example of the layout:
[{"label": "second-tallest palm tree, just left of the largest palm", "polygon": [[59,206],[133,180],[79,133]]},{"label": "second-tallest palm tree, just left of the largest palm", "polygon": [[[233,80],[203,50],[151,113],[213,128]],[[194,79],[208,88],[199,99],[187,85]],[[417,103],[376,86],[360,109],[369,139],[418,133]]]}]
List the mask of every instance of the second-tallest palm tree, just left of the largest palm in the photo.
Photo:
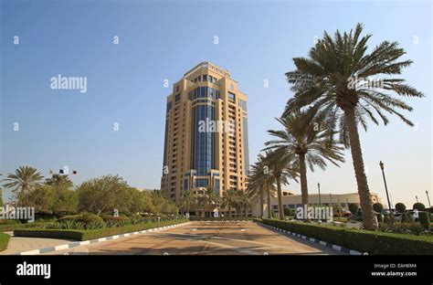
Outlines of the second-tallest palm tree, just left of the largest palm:
[{"label": "second-tallest palm tree, just left of the largest palm", "polygon": [[322,170],[328,160],[334,165],[343,162],[343,147],[333,139],[332,129],[318,128],[305,111],[293,111],[286,117],[277,121],[284,127],[282,131],[269,130],[270,135],[277,140],[266,142],[269,149],[282,149],[286,153],[295,153],[298,156],[298,164],[301,176],[302,205],[308,205],[307,164],[314,171],[314,165]]}]

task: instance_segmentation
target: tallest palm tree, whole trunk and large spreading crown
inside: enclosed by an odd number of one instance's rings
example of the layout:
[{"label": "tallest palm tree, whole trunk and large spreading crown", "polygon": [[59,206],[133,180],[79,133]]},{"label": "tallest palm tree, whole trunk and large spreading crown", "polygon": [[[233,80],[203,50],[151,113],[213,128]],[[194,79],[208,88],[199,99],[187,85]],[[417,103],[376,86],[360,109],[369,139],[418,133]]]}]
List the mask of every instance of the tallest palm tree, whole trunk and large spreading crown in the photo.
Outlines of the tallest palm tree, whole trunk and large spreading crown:
[{"label": "tallest palm tree, whole trunk and large spreading crown", "polygon": [[295,94],[287,102],[283,116],[308,106],[318,120],[338,127],[341,140],[351,149],[364,228],[375,230],[377,224],[364,171],[358,124],[365,131],[367,119],[378,124],[375,113],[387,124],[384,113],[387,112],[413,126],[398,111],[412,111],[412,108],[389,93],[408,97],[423,97],[423,94],[404,79],[387,77],[399,75],[410,66],[411,60],[400,59],[405,50],[396,42],[384,41],[366,53],[371,35],[361,38],[362,30],[363,26],[358,24],[354,31],[343,35],[338,30],[334,37],[325,32],[311,48],[309,58],[293,58],[296,69],[287,72],[286,77]]}]

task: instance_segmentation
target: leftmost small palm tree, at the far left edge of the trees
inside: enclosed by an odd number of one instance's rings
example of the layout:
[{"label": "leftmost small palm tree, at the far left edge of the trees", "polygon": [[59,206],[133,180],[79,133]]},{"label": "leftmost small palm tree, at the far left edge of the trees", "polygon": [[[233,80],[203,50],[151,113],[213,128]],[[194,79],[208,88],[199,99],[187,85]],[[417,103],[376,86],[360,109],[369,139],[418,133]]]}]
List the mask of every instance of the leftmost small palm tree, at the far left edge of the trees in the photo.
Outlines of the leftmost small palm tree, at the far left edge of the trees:
[{"label": "leftmost small palm tree, at the far left edge of the trees", "polygon": [[12,188],[12,193],[16,196],[18,206],[27,206],[28,195],[44,178],[42,174],[37,172],[36,168],[31,166],[20,166],[16,169],[15,174],[8,174],[5,178],[5,187]]}]

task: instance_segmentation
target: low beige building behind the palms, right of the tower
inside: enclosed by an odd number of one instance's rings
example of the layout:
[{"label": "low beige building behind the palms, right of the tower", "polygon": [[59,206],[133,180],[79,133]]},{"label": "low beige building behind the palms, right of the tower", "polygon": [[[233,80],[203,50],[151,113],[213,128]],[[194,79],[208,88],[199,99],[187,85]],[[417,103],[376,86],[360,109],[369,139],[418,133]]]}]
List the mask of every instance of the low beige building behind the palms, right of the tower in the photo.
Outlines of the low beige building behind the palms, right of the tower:
[{"label": "low beige building behind the palms, right of the tower", "polygon": [[[373,203],[381,203],[379,195],[371,193]],[[298,206],[302,206],[301,195],[293,194],[288,190],[283,190],[282,192],[282,205],[283,207],[290,207],[295,209]],[[309,194],[308,202],[310,206],[341,206],[343,209],[348,209],[349,204],[359,205],[359,195],[358,193],[348,193],[348,194],[329,194],[322,193],[319,194]],[[274,213],[278,213],[278,198],[273,197],[270,199],[270,206]],[[253,212],[253,216],[260,216],[260,205],[256,205]],[[264,206],[264,215],[268,217],[268,206]]]}]

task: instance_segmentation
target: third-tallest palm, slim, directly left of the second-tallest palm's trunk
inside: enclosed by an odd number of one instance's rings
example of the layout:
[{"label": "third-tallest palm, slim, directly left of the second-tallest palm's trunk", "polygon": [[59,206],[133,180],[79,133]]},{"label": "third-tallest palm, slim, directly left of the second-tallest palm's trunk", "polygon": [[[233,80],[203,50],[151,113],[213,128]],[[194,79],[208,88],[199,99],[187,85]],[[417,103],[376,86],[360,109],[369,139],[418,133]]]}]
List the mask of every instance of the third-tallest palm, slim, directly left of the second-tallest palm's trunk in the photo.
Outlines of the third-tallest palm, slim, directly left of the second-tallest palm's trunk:
[{"label": "third-tallest palm, slim, directly left of the second-tallest palm's trunk", "polygon": [[278,149],[269,154],[269,174],[275,179],[275,183],[277,184],[280,219],[284,219],[281,185],[289,184],[289,179],[297,181],[299,167],[294,164],[295,159],[295,153],[286,153],[284,149]]}]

